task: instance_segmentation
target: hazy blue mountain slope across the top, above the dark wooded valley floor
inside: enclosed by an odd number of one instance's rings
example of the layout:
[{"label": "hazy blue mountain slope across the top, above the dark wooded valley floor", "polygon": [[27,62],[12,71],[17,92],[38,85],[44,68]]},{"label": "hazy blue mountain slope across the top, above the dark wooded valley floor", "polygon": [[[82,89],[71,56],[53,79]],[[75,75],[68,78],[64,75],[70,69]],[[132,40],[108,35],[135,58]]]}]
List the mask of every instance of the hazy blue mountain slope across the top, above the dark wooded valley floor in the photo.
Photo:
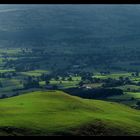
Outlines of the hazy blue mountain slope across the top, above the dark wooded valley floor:
[{"label": "hazy blue mountain slope across the top, above the dark wooded valley floor", "polygon": [[115,45],[140,34],[139,5],[7,5],[3,9],[1,40],[57,40],[80,45],[84,39],[85,46],[90,42],[104,46],[102,42]]}]

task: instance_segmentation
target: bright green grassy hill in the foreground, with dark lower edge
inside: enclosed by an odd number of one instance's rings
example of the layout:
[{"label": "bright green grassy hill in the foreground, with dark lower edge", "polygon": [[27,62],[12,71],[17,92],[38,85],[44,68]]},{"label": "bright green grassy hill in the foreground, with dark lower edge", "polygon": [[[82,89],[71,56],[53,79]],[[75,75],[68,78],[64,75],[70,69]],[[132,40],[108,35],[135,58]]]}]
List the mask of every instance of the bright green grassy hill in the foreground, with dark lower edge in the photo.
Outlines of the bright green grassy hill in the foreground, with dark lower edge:
[{"label": "bright green grassy hill in the foreground, with dark lower edge", "polygon": [[61,91],[0,100],[0,135],[140,135],[140,111]]}]

